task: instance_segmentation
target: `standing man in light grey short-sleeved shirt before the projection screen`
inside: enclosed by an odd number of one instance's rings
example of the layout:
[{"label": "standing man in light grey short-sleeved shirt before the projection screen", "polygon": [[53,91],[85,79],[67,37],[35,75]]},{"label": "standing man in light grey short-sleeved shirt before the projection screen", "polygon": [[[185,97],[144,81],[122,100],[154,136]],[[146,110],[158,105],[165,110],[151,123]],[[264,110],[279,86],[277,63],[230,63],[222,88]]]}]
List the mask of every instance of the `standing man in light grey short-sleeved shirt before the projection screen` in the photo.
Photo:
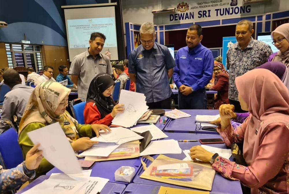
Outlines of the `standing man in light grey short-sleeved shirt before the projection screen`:
[{"label": "standing man in light grey short-sleeved shirt before the projection screen", "polygon": [[86,99],[91,80],[99,73],[112,75],[112,66],[108,56],[100,53],[105,43],[105,35],[93,32],[90,35],[88,49],[76,55],[69,69],[71,79],[78,86],[78,98]]}]

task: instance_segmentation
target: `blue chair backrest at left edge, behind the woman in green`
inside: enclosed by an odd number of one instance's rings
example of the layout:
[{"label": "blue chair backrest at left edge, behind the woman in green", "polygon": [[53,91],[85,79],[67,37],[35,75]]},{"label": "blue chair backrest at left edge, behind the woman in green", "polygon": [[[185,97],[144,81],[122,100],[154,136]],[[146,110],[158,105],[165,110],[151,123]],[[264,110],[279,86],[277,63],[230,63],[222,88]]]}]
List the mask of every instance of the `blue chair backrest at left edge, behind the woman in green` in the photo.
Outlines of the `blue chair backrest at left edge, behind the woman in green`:
[{"label": "blue chair backrest at left edge, behind the woman in green", "polygon": [[23,162],[18,134],[13,127],[1,133],[0,142],[0,164],[3,168],[11,169]]}]

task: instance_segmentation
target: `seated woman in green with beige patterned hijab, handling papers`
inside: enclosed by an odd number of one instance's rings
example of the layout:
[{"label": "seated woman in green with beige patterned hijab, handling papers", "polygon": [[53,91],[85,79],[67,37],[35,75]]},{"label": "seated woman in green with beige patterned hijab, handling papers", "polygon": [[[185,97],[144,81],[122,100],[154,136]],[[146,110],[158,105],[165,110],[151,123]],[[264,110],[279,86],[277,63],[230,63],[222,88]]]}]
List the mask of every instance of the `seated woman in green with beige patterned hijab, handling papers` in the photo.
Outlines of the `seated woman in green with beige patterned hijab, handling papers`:
[{"label": "seated woman in green with beige patterned hijab, handling papers", "polygon": [[[25,156],[33,143],[28,137],[29,131],[37,130],[46,125],[59,122],[74,151],[86,150],[93,144],[92,131],[99,136],[99,131],[111,131],[105,125],[80,125],[65,110],[68,105],[70,89],[58,82],[49,80],[37,85],[26,105],[19,124],[18,142]],[[36,177],[51,170],[53,165],[45,158],[36,169]]]}]

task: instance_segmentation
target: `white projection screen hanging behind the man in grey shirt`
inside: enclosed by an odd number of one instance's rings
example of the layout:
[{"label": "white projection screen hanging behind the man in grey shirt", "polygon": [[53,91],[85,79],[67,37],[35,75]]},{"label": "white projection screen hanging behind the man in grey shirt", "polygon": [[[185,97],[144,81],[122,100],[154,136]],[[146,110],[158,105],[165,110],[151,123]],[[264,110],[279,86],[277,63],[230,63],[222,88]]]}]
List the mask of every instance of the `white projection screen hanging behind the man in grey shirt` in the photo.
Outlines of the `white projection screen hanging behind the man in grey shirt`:
[{"label": "white projection screen hanging behind the man in grey shirt", "polygon": [[65,8],[64,16],[70,61],[87,50],[93,32],[101,32],[106,36],[101,53],[110,60],[118,60],[114,5]]}]

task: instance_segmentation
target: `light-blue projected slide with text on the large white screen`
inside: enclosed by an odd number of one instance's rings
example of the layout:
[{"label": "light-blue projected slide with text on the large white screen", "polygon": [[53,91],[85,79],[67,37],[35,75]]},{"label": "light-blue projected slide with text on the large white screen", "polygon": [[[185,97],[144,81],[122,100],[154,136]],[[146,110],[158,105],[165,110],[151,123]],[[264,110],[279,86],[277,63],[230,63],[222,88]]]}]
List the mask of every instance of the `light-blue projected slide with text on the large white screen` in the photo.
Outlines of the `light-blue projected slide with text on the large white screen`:
[{"label": "light-blue projected slide with text on the large white screen", "polygon": [[67,20],[69,48],[88,48],[90,34],[101,32],[106,39],[104,47],[117,47],[114,17]]}]

